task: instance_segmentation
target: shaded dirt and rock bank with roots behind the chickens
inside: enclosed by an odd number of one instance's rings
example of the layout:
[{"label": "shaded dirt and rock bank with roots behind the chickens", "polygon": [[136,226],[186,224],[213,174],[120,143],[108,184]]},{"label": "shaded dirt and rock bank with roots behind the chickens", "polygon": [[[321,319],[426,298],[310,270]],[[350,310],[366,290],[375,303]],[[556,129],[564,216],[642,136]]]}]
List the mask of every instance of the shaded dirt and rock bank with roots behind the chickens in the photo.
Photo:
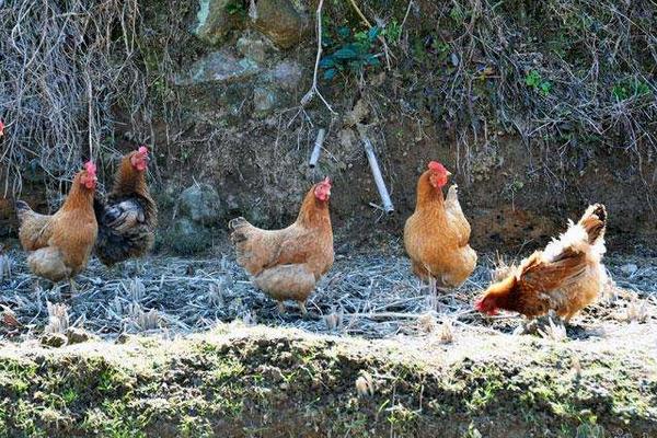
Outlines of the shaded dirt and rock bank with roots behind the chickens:
[{"label": "shaded dirt and rock bank with roots behind the chickens", "polygon": [[[199,22],[210,3],[220,26],[208,39],[198,30],[210,26]],[[126,9],[113,1],[102,11],[78,11],[76,3],[69,4],[77,11],[72,19],[37,8],[57,32],[89,46],[38,45],[30,36],[41,35],[38,26],[8,11],[0,27],[8,35],[0,38],[9,42],[2,46],[8,59],[22,59],[10,44],[21,30],[36,45],[41,68],[0,93],[14,102],[15,90],[25,88],[22,94],[41,97],[38,113],[0,102],[10,124],[0,168],[7,196],[0,199],[0,238],[15,233],[13,195],[57,208],[68,188],[61,182],[90,150],[101,181],[110,182],[119,154],[145,142],[153,149],[150,182],[162,211],[163,249],[175,246],[168,242],[175,240],[170,234],[178,219],[177,195],[195,183],[218,192],[216,235],[235,215],[265,227],[288,222],[304,191],[324,174],[335,181],[337,228],[364,241],[397,237],[414,207],[417,175],[437,159],[454,172],[477,250],[541,245],[567,218],[599,201],[610,212],[611,249],[655,254],[652,2],[365,1],[362,13],[380,19],[378,32],[388,43],[373,38],[358,46],[377,60],[367,68],[345,64],[333,79],[320,69],[319,89],[335,114],[319,99],[300,105],[316,55],[310,25],[316,3],[277,8],[290,14],[286,23],[304,26],[291,32],[298,35],[291,46],[267,39],[274,34],[266,18],[252,26],[246,3],[142,0]],[[337,62],[335,54],[353,48],[368,28],[348,2],[326,4],[323,18],[323,58]],[[97,23],[88,26],[88,20]],[[43,78],[51,54],[61,54],[57,60],[71,78],[93,78],[92,93],[100,97],[90,132],[76,128],[87,126],[91,114],[84,81],[54,93],[53,81]],[[7,83],[22,78],[21,68],[8,65]],[[53,119],[61,107],[84,111]],[[320,127],[327,129],[324,150],[311,170],[307,161]],[[390,218],[370,205],[380,200],[359,131],[377,148],[396,207]]]}]

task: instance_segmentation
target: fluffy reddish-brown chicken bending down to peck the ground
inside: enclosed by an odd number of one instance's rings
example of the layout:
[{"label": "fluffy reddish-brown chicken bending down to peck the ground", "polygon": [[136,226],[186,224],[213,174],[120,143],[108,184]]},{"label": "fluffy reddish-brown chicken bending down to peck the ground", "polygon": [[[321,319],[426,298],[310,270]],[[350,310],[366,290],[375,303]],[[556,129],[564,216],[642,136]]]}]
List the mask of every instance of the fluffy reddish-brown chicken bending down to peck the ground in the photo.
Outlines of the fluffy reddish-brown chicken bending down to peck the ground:
[{"label": "fluffy reddish-brown chicken bending down to peck the ground", "polygon": [[604,254],[607,210],[589,206],[579,222],[569,222],[558,240],[537,251],[476,300],[477,311],[494,315],[498,309],[528,318],[550,310],[566,322],[592,302],[607,283]]}]

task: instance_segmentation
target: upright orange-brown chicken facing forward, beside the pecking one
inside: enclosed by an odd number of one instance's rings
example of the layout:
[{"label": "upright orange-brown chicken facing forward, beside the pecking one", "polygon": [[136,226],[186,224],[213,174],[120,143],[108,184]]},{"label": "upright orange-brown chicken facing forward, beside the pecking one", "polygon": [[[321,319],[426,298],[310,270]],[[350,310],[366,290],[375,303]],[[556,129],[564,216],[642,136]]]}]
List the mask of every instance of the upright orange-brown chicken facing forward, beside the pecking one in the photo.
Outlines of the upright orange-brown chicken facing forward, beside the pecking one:
[{"label": "upright orange-brown chicken facing forward, beside the pecking one", "polygon": [[437,288],[458,287],[474,270],[476,253],[468,244],[470,223],[461,210],[457,185],[442,196],[451,173],[436,161],[417,182],[415,212],[404,227],[404,246],[413,273],[423,280],[434,278]]}]

